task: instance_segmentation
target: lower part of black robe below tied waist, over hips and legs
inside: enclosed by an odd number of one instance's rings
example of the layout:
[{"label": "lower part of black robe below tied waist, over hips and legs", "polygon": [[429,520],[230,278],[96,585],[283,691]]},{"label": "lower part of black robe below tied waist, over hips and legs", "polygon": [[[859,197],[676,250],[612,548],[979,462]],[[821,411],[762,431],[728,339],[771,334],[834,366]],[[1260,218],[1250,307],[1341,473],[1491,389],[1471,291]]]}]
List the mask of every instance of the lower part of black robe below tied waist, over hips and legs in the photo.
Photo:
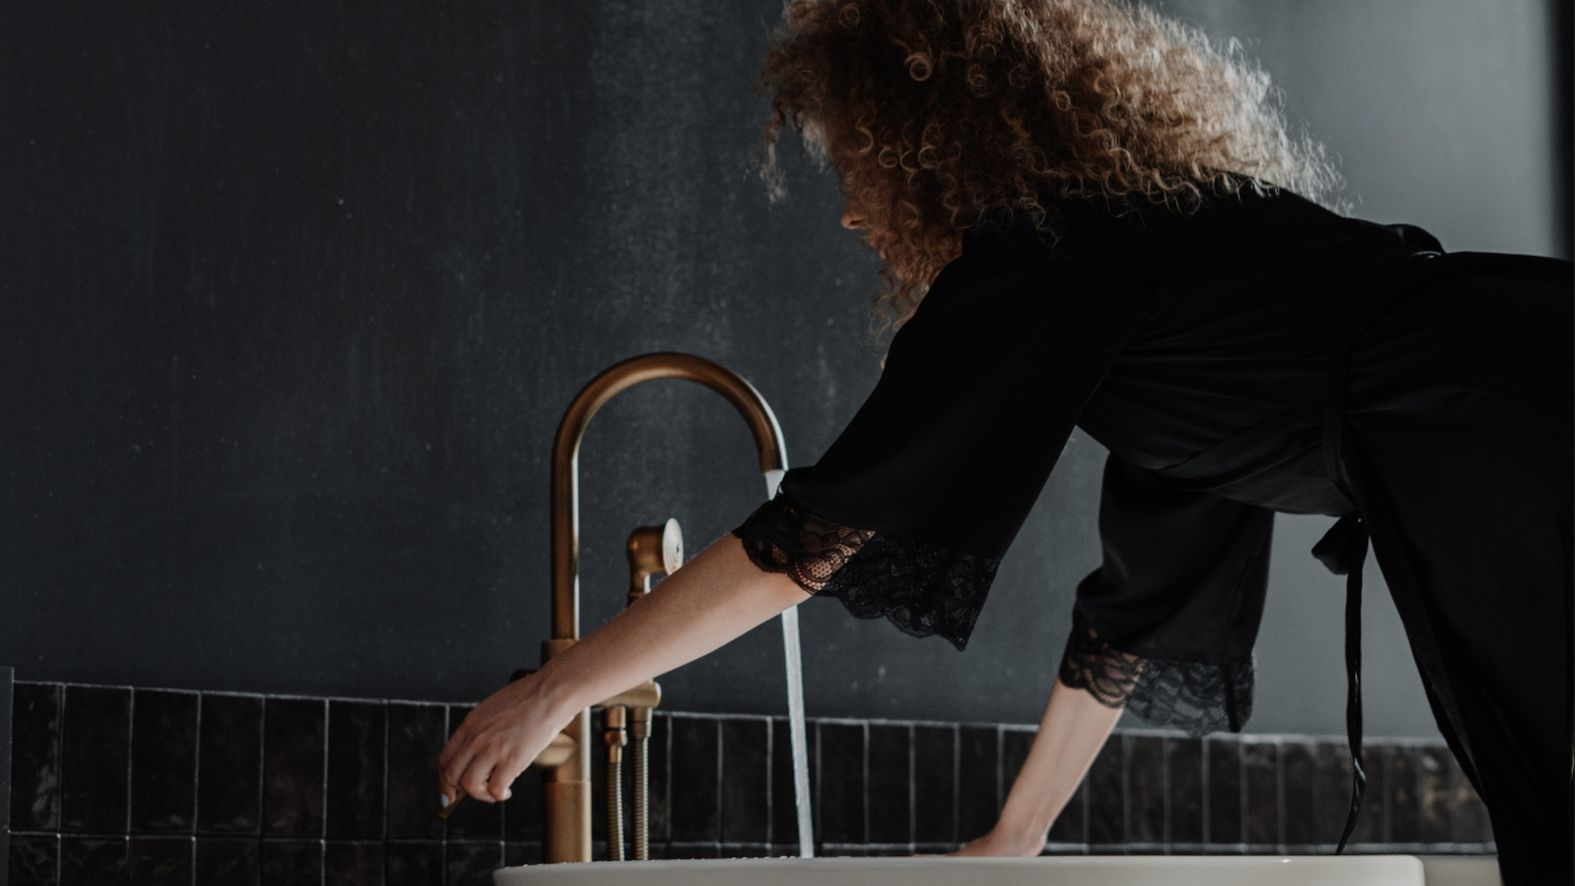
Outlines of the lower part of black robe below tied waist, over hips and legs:
[{"label": "lower part of black robe below tied waist, over hips and legs", "polygon": [[1429,261],[1353,351],[1347,471],[1504,884],[1567,884],[1575,266]]}]

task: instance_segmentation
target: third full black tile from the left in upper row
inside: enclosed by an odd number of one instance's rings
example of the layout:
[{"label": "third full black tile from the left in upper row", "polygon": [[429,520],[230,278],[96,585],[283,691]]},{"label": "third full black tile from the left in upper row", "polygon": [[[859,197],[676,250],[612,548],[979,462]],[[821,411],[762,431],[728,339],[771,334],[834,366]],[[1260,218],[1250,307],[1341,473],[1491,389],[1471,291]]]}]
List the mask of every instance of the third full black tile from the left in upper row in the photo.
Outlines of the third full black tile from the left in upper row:
[{"label": "third full black tile from the left in upper row", "polygon": [[132,692],[132,831],[192,832],[197,821],[197,692]]}]

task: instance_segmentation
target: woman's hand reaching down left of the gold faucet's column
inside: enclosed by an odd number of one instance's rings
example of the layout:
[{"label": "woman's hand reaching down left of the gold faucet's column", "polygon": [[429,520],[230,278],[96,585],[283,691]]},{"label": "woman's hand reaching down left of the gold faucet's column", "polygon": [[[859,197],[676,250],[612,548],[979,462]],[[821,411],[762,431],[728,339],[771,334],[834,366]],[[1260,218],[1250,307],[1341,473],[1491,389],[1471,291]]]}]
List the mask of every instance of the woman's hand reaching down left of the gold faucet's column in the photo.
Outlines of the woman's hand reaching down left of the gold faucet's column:
[{"label": "woman's hand reaching down left of the gold faucet's column", "polygon": [[562,730],[573,711],[553,703],[537,674],[487,696],[471,708],[438,754],[443,806],[460,790],[485,803],[509,799],[509,785]]}]

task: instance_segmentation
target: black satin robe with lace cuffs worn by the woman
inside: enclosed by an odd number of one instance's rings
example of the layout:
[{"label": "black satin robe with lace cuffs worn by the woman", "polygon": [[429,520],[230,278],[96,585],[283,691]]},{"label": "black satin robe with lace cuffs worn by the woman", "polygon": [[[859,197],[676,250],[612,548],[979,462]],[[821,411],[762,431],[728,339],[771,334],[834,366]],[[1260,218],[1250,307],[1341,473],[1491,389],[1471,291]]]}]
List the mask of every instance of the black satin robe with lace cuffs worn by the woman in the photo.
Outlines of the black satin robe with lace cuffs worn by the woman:
[{"label": "black satin robe with lace cuffs worn by the woman", "polygon": [[734,535],[962,650],[1079,426],[1109,450],[1104,557],[1060,675],[1200,735],[1251,716],[1274,513],[1339,516],[1312,554],[1347,576],[1340,848],[1370,538],[1506,884],[1529,883],[1569,839],[1569,674],[1547,666],[1570,647],[1570,263],[1449,253],[1288,190],[1054,211],[1055,242],[969,231],[847,428]]}]

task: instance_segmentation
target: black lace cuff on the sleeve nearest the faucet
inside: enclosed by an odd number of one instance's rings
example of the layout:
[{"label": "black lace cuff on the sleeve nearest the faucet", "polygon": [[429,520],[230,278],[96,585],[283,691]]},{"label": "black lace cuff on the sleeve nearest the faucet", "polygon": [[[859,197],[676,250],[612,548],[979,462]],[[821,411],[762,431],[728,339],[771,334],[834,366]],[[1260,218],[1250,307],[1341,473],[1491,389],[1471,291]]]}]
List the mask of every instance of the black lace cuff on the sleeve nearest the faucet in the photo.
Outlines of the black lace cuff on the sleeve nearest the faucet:
[{"label": "black lace cuff on the sleeve nearest the faucet", "polygon": [[788,573],[860,618],[884,615],[915,637],[940,634],[959,652],[1000,565],[947,545],[843,526],[780,489],[732,533],[762,570]]}]

